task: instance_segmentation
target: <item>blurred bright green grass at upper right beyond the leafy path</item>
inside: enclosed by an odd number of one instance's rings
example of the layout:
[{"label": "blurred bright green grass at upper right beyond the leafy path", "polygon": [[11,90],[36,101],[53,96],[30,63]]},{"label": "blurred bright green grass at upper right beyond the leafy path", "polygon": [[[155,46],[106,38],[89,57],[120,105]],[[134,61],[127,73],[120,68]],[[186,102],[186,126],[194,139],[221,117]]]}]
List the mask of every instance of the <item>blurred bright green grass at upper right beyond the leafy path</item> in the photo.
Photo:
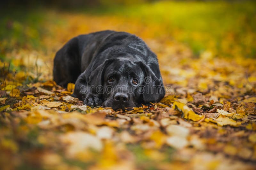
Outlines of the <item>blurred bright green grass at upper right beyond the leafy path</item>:
[{"label": "blurred bright green grass at upper right beyond the leafy path", "polygon": [[226,48],[241,48],[238,50],[243,57],[256,57],[255,6],[256,1],[160,1],[92,11],[165,27],[170,36],[188,44],[196,55],[211,49],[219,56],[233,56]]}]

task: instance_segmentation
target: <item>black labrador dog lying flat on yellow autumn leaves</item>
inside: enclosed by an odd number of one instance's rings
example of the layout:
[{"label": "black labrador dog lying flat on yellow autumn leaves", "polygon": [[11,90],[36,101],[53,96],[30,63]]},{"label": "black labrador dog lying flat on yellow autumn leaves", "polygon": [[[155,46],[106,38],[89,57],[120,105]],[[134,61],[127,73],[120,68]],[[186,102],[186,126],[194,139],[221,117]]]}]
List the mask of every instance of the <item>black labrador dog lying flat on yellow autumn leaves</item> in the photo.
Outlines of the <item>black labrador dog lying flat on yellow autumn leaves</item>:
[{"label": "black labrador dog lying flat on yellow autumn leaves", "polygon": [[87,106],[138,107],[160,101],[163,80],[156,54],[127,32],[100,31],[69,40],[54,59],[53,80]]}]

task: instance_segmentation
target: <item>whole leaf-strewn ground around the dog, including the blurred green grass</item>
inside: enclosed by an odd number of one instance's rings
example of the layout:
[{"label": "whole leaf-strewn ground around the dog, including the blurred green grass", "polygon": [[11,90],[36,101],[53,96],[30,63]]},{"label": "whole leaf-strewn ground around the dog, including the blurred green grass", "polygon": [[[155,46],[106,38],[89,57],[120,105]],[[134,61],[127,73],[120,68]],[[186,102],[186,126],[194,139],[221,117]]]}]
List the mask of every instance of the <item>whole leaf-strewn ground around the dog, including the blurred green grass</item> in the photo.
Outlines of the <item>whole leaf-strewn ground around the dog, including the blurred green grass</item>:
[{"label": "whole leaf-strewn ground around the dog, including the blurred green grass", "polygon": [[[3,15],[1,169],[255,169],[255,4],[189,5]],[[52,81],[68,39],[105,29],[134,33],[157,54],[163,100],[90,108],[70,96],[74,84]]]}]

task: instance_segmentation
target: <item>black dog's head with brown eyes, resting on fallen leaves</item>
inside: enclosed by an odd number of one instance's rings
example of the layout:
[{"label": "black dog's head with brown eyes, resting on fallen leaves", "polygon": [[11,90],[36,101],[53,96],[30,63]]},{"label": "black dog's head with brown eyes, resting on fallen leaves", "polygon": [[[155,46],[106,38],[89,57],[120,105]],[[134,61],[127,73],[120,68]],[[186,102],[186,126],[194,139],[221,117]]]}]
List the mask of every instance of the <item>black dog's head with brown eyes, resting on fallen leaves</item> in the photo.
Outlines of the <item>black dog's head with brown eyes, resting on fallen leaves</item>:
[{"label": "black dog's head with brown eyes, resting on fallen leaves", "polygon": [[90,76],[95,90],[102,96],[104,107],[138,107],[164,97],[163,83],[142,61],[108,59]]}]

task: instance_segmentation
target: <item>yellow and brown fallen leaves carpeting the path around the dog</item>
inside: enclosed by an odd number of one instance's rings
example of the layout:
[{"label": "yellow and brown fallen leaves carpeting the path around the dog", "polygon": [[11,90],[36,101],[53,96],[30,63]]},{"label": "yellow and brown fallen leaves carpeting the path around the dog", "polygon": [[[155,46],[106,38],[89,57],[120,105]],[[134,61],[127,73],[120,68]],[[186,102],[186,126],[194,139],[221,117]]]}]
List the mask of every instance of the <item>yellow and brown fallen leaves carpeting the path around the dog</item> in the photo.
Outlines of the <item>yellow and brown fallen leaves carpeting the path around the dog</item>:
[{"label": "yellow and brown fallen leaves carpeting the path around the dog", "polygon": [[[183,43],[156,35],[164,28],[137,20],[68,13],[59,19],[65,24],[42,23],[44,50],[17,45],[1,62],[3,169],[255,169],[255,59],[215,57],[211,49],[195,57]],[[63,43],[104,29],[134,33],[157,54],[167,86],[159,103],[90,108],[70,96],[74,84],[63,89],[52,81]]]}]

